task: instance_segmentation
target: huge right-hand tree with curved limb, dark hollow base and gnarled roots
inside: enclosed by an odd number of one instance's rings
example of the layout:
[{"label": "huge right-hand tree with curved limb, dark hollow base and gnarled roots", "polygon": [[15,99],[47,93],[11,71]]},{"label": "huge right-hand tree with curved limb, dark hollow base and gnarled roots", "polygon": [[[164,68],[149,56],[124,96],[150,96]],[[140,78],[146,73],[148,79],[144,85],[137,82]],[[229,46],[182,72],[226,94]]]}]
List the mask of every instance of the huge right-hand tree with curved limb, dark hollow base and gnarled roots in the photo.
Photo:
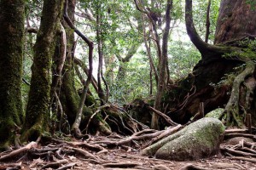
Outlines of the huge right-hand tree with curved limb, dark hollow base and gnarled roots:
[{"label": "huge right-hand tree with curved limb, dark hollow base and gnarled roots", "polygon": [[241,126],[247,113],[252,114],[253,124],[256,124],[255,86],[252,85],[256,82],[253,76],[256,52],[252,46],[256,35],[255,19],[256,12],[246,0],[222,0],[215,44],[211,45],[202,41],[195,31],[192,0],[186,0],[187,31],[202,58],[195,65],[193,74],[178,82],[183,89],[169,90],[172,103],[173,98],[177,101],[177,105],[171,104],[169,116],[177,122],[188,122],[204,102],[206,113],[218,107],[224,108],[224,115],[231,116],[224,118],[232,125]]}]

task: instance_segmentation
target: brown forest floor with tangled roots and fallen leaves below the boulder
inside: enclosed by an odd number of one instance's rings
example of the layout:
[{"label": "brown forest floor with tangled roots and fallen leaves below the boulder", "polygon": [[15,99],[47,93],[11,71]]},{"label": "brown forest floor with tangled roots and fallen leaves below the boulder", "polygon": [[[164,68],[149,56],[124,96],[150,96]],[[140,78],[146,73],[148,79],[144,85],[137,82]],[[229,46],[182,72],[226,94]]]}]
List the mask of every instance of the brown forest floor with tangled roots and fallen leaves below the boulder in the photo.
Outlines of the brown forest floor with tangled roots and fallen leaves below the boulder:
[{"label": "brown forest floor with tangled roots and fallen leaves below the boulder", "polygon": [[[109,147],[108,137],[91,136],[89,139],[70,141],[54,139],[44,146],[22,150],[21,155],[9,157],[9,161],[0,160],[3,169],[83,169],[83,170],[256,170],[256,163],[232,160],[230,156],[212,156],[198,161],[166,161],[154,157],[141,156],[144,142]],[[105,144],[103,144],[105,143]],[[29,144],[27,144],[29,145]],[[108,147],[107,147],[108,145]],[[222,144],[226,146],[226,144]],[[24,148],[23,148],[24,149]],[[11,153],[11,152],[10,152]],[[8,153],[0,153],[0,159]]]}]

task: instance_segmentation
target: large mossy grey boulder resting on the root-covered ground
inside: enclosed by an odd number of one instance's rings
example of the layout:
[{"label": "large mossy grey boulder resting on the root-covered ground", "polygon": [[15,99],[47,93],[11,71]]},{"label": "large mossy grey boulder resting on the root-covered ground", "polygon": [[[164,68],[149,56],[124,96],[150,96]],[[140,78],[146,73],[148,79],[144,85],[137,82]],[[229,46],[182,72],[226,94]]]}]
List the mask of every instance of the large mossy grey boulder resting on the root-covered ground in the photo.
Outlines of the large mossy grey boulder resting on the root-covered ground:
[{"label": "large mossy grey boulder resting on the root-covered ground", "polygon": [[206,158],[218,152],[224,130],[218,119],[205,117],[145,148],[142,154],[174,161]]}]

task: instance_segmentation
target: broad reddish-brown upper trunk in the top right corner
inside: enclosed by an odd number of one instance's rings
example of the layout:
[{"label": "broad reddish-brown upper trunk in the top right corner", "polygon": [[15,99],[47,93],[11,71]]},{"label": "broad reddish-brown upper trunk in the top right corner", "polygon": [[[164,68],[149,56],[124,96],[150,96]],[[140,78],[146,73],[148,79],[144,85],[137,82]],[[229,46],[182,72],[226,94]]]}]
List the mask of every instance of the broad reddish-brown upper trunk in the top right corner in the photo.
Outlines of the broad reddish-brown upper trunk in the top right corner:
[{"label": "broad reddish-brown upper trunk in the top right corner", "polygon": [[256,36],[256,14],[246,0],[221,1],[215,44]]}]

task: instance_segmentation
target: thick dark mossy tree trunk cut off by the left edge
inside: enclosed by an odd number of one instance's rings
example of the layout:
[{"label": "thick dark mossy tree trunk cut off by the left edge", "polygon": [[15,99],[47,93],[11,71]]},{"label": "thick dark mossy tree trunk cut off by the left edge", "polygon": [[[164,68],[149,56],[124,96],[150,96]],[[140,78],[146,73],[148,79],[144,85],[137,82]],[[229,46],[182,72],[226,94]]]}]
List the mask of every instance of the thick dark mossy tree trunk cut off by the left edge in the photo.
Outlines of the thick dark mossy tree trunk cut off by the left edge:
[{"label": "thick dark mossy tree trunk cut off by the left edge", "polygon": [[24,0],[0,1],[0,149],[7,149],[22,122],[24,8]]}]

